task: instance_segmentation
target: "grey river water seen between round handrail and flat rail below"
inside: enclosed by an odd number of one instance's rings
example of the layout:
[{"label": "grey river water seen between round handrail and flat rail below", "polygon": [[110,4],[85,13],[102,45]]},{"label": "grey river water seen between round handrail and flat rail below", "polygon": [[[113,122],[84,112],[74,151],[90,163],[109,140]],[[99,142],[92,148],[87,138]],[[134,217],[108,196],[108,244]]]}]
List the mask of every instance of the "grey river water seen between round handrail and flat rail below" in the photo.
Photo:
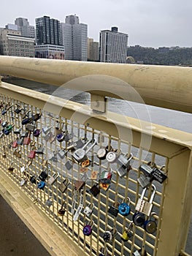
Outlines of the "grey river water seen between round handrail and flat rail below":
[{"label": "grey river water seen between round handrail and flat rail below", "polygon": [[[90,94],[65,89],[64,86],[61,89],[55,86],[45,85],[42,83],[37,83],[34,81],[23,80],[18,78],[9,78],[5,81],[7,83],[13,83],[18,86],[22,86],[35,91],[40,91],[45,94],[51,94],[64,99],[70,99],[74,102],[79,102],[85,105],[89,105],[91,101]],[[181,131],[191,133],[192,114],[189,113],[183,113],[174,110],[166,110],[164,108],[146,106],[134,102],[125,102],[120,99],[112,98],[108,99],[108,109],[115,113],[124,114],[126,116],[139,118],[140,120],[150,121],[154,124],[161,124],[165,127],[179,129]],[[186,252],[192,255],[192,219],[191,227],[188,233]]]}]

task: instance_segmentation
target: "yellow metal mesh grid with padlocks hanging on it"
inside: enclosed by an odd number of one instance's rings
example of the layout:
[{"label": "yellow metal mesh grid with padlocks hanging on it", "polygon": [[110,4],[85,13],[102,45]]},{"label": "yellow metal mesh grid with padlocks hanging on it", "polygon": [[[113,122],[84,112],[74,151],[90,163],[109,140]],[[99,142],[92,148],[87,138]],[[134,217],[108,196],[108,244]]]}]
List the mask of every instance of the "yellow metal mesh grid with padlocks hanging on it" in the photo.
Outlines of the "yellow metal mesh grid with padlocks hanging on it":
[{"label": "yellow metal mesh grid with padlocks hanging on it", "polygon": [[[114,138],[111,135],[105,134],[99,130],[93,129],[82,124],[78,124],[74,121],[68,120],[61,116],[55,116],[52,113],[47,113],[44,110],[34,108],[31,105],[27,105],[24,102],[18,102],[9,97],[1,95],[1,102],[9,102],[12,104],[12,108],[7,110],[7,113],[1,116],[1,124],[3,121],[8,121],[8,124],[14,124],[12,132],[9,135],[2,135],[0,139],[1,145],[1,170],[7,173],[7,176],[18,184],[18,187],[23,192],[31,197],[31,203],[37,203],[39,209],[45,212],[53,222],[61,227],[65,233],[67,233],[73,241],[75,241],[84,251],[86,255],[98,255],[101,247],[104,247],[105,255],[131,255],[137,249],[142,248],[142,252],[146,250],[147,255],[155,255],[158,247],[158,236],[161,230],[161,206],[163,206],[164,200],[164,184],[159,184],[153,181],[155,184],[156,192],[155,199],[153,200],[153,211],[155,211],[155,219],[158,223],[157,232],[154,235],[147,233],[143,227],[133,226],[133,236],[128,241],[122,241],[121,236],[126,227],[130,224],[133,214],[135,212],[135,206],[137,200],[142,193],[142,188],[139,187],[137,178],[140,176],[139,166],[142,163],[155,162],[158,167],[165,165],[164,170],[167,170],[169,159],[166,157],[158,156],[155,152],[147,152],[145,149],[136,148],[131,145],[128,141],[121,141],[118,138]],[[20,127],[22,131],[26,130],[26,125],[22,125],[21,114],[15,113],[16,104],[22,106],[25,110],[31,110],[31,113],[42,113],[42,117],[36,122],[36,128],[41,130],[38,138],[35,138],[31,133],[31,143],[35,142],[35,147],[43,146],[45,148],[44,154],[36,154],[36,157],[30,161],[28,158],[29,152],[34,149],[34,146],[21,145],[18,148],[12,148],[12,142],[18,138],[18,135],[14,134],[16,127]],[[5,105],[2,104],[1,110],[4,110]],[[42,128],[51,127],[50,131],[52,135],[50,138],[45,140],[45,134],[42,132]],[[2,128],[2,127],[1,127]],[[55,131],[59,128],[68,130],[69,134],[72,134],[72,138],[69,142],[63,141],[59,143],[55,140]],[[21,131],[21,132],[22,132]],[[58,151],[66,149],[69,145],[79,139],[88,140],[93,138],[96,139],[97,145],[91,149],[88,153],[88,159],[91,160],[91,165],[82,168],[77,163],[72,163],[72,168],[67,170],[66,162],[72,159],[72,153],[67,153],[64,158],[59,157]],[[101,147],[112,146],[112,148],[121,151],[128,157],[129,154],[133,154],[131,159],[131,170],[128,171],[127,175],[120,178],[117,174],[117,168],[119,165],[115,162],[110,164],[106,159],[101,160],[96,157],[96,153]],[[19,151],[20,158],[15,156],[15,151]],[[6,154],[6,155],[4,155]],[[147,155],[147,157],[146,157]],[[143,157],[145,156],[145,158]],[[9,167],[13,167],[14,170],[8,170]],[[22,171],[22,167],[25,170]],[[48,169],[48,177],[46,179],[46,185],[44,189],[37,189],[37,183],[39,174],[42,170]],[[99,195],[93,196],[90,192],[93,184],[99,184],[98,179],[95,179],[95,175],[101,173],[102,170],[112,171],[112,182],[110,188],[107,191],[100,189]],[[48,179],[53,174],[59,173],[59,176],[53,185],[48,184]],[[77,192],[78,203],[80,195],[83,196],[83,208],[89,204],[93,205],[93,214],[91,217],[87,217],[83,214],[83,209],[80,213],[80,217],[77,221],[73,220],[72,216],[72,201],[74,198],[74,184],[75,181],[85,178],[87,174],[87,180],[85,187]],[[29,179],[31,176],[35,176],[37,179],[36,184],[32,184]],[[69,178],[70,184],[66,189],[66,192],[62,193],[58,187],[64,181],[64,178]],[[20,186],[20,181],[25,180],[26,183]],[[150,189],[149,189],[150,190]],[[148,193],[147,197],[150,197]],[[118,217],[113,217],[108,209],[114,202],[121,203],[123,198],[130,198],[131,214],[128,217],[123,217],[118,214]],[[145,200],[147,198],[145,197]],[[61,204],[65,201],[66,212],[64,217],[58,216],[58,210],[61,208]],[[88,222],[93,221],[93,231],[91,236],[83,236],[82,227]],[[106,230],[112,230],[112,228],[118,230],[117,235],[110,243],[104,243],[103,235]],[[107,248],[107,252],[106,252]]]}]

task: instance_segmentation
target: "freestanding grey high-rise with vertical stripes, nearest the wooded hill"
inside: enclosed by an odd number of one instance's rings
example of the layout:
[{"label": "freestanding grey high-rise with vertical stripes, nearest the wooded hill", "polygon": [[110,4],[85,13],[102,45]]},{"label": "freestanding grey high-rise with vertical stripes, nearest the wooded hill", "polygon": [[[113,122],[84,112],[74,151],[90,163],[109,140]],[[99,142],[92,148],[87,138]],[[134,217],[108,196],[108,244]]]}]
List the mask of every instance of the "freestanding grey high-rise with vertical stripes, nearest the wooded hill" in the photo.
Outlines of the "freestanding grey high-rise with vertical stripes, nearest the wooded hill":
[{"label": "freestanding grey high-rise with vertical stripes, nearest the wooded hill", "polygon": [[102,30],[99,37],[99,59],[101,62],[126,63],[128,34],[118,32],[117,27]]}]

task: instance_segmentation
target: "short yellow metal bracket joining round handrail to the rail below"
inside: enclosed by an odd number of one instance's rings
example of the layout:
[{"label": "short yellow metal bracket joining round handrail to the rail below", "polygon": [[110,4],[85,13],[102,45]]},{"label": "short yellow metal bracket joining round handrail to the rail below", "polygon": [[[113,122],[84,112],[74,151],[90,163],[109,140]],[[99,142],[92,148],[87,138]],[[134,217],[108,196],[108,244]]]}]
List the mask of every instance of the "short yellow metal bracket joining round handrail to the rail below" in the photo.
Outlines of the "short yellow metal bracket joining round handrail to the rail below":
[{"label": "short yellow metal bracket joining round handrail to the rail below", "polygon": [[94,112],[106,113],[107,98],[98,94],[91,94],[91,109]]}]

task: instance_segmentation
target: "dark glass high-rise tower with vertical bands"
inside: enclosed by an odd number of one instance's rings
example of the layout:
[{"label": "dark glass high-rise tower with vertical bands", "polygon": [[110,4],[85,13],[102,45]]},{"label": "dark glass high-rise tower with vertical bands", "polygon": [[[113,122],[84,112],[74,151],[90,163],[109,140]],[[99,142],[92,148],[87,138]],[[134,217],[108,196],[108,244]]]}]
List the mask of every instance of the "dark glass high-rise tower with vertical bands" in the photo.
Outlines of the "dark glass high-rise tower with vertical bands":
[{"label": "dark glass high-rise tower with vertical bands", "polygon": [[48,16],[36,18],[37,45],[62,45],[60,21]]}]

